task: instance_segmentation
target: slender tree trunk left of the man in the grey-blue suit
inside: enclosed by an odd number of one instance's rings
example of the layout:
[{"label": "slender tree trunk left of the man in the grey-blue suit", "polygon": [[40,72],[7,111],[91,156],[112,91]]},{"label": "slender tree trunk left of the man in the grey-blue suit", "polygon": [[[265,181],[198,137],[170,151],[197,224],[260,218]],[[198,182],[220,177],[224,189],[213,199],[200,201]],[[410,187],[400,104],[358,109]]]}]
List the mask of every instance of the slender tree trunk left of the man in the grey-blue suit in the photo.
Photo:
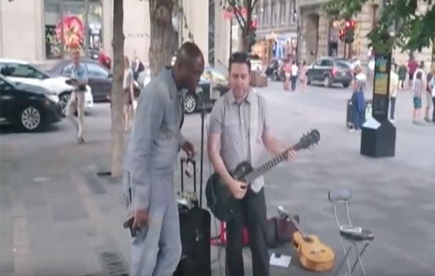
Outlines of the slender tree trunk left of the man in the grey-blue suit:
[{"label": "slender tree trunk left of the man in the grey-blue suit", "polygon": [[111,97],[112,113],[112,177],[122,175],[124,153],[124,118],[122,80],[124,78],[124,21],[123,0],[113,1],[113,86]]}]

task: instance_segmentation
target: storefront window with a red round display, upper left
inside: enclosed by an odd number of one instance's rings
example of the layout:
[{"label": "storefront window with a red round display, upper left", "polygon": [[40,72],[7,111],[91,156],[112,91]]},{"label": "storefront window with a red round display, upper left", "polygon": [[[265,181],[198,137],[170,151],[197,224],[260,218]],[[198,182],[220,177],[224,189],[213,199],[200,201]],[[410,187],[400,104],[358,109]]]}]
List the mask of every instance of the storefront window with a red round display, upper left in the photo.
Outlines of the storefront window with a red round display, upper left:
[{"label": "storefront window with a red round display, upper left", "polygon": [[[46,58],[72,50],[95,56],[101,43],[101,0],[44,0]],[[87,35],[86,35],[87,34]]]}]

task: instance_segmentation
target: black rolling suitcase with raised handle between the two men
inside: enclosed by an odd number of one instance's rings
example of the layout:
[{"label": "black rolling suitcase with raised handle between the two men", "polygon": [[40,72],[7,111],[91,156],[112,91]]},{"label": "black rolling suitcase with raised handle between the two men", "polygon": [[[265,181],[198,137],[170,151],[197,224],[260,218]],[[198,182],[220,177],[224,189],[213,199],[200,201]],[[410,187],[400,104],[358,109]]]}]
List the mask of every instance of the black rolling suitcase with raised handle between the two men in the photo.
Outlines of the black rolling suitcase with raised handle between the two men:
[{"label": "black rolling suitcase with raised handle between the two men", "polygon": [[[184,192],[184,164],[189,164],[189,162],[193,165],[193,193]],[[211,216],[208,210],[202,208],[201,192],[202,188],[200,188],[198,202],[195,160],[181,159],[181,192],[177,193],[177,201],[180,214],[182,257],[174,276],[211,276]]]}]

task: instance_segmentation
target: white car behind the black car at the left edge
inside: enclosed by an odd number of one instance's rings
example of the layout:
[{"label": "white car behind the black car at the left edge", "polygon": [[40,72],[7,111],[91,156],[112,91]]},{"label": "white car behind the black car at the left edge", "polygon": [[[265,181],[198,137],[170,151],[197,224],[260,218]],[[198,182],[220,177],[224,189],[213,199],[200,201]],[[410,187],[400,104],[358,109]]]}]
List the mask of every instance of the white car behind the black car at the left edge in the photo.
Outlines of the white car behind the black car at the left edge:
[{"label": "white car behind the black car at the left edge", "polygon": [[[59,97],[62,112],[65,113],[66,103],[68,103],[73,89],[72,86],[65,83],[69,79],[69,75],[66,77],[51,75],[49,72],[39,70],[26,61],[16,59],[0,59],[0,73],[14,83],[41,86],[55,93]],[[93,106],[93,91],[90,86],[86,86],[85,111],[91,110]]]}]

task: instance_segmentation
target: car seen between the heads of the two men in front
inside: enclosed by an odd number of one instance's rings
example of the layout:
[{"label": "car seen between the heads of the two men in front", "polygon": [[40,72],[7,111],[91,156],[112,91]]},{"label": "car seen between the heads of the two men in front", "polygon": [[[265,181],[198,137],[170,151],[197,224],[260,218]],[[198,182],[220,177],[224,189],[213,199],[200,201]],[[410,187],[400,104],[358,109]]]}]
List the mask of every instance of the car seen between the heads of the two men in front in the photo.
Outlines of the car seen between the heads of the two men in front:
[{"label": "car seen between the heads of the two men in front", "polygon": [[210,110],[215,101],[228,91],[229,79],[226,74],[216,68],[206,67],[196,90],[184,95],[184,112],[190,114],[202,110],[202,107]]}]

